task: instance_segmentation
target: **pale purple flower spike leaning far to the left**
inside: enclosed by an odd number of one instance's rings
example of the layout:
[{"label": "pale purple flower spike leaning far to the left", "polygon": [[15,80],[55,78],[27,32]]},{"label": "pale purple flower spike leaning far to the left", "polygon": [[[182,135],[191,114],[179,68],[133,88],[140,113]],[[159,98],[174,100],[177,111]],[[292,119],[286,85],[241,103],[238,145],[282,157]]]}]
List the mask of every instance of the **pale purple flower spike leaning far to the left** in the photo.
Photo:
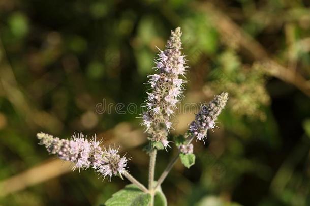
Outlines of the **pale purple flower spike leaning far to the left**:
[{"label": "pale purple flower spike leaning far to the left", "polygon": [[96,137],[88,141],[80,133],[78,136],[73,135],[70,140],[59,139],[45,133],[38,133],[38,139],[41,145],[50,154],[57,155],[60,159],[74,163],[73,169],[87,169],[92,167],[95,171],[105,178],[112,175],[122,174],[125,172],[128,159],[120,157],[118,150],[109,148],[108,151],[102,150],[100,141]]}]

